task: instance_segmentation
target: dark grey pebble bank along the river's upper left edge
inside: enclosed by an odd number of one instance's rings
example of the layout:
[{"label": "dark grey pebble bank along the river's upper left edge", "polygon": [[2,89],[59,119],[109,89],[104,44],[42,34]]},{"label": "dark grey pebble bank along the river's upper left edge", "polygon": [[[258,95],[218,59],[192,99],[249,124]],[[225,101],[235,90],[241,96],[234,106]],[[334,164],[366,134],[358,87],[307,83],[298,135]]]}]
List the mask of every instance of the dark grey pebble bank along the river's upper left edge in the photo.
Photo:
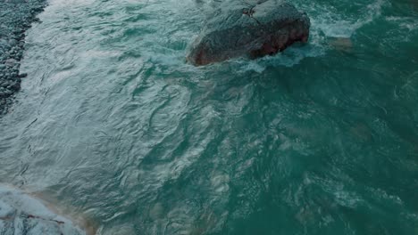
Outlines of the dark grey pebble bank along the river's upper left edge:
[{"label": "dark grey pebble bank along the river's upper left edge", "polygon": [[45,6],[45,0],[0,0],[0,116],[10,108],[21,78],[26,77],[19,72],[25,32]]}]

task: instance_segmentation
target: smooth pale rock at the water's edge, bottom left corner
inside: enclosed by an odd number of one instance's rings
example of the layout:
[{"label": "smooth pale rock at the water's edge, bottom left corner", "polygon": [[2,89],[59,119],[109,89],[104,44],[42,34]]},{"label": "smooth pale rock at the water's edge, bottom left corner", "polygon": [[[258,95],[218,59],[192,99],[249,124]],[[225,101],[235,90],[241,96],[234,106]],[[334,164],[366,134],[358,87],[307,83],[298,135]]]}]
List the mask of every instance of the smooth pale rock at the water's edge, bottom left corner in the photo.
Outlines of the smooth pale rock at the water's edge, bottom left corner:
[{"label": "smooth pale rock at the water's edge, bottom left corner", "polygon": [[86,234],[69,219],[56,215],[38,199],[0,185],[0,235]]}]

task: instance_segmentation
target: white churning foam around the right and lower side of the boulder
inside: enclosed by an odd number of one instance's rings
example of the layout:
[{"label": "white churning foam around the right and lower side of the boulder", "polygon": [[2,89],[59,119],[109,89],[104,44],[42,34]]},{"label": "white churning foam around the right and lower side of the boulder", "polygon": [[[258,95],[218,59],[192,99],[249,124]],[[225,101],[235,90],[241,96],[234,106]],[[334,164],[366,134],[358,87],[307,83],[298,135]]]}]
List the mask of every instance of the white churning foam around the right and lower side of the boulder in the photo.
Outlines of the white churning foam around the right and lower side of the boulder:
[{"label": "white churning foam around the right and lower side of the boulder", "polygon": [[349,18],[341,15],[335,8],[327,4],[300,5],[298,8],[308,12],[311,17],[311,32],[308,45],[288,47],[283,53],[267,56],[255,61],[238,59],[230,61],[239,73],[254,71],[263,73],[269,67],[292,67],[307,57],[319,57],[325,54],[329,47],[326,37],[349,38],[355,31],[376,20],[381,15],[381,9],[387,0],[376,0],[364,6],[359,17]]}]

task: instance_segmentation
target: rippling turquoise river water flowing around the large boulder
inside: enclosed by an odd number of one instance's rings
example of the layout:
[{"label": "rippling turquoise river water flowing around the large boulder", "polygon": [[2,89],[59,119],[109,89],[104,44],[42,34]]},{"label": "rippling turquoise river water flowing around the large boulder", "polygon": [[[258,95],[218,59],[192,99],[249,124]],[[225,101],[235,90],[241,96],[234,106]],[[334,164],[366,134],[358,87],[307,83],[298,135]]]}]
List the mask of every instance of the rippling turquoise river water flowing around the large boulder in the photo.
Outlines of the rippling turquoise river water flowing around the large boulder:
[{"label": "rippling turquoise river water flowing around the large boulder", "polygon": [[418,4],[293,4],[308,45],[195,68],[215,2],[52,0],[0,182],[97,234],[418,234]]}]

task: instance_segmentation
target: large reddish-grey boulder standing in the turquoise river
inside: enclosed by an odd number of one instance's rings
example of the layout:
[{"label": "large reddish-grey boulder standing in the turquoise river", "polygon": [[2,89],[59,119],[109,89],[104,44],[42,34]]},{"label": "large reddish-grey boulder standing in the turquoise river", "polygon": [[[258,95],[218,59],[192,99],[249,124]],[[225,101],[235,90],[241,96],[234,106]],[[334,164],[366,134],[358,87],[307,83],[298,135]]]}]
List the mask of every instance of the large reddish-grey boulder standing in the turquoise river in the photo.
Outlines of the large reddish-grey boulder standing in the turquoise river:
[{"label": "large reddish-grey boulder standing in the turquoise river", "polygon": [[198,66],[272,55],[295,42],[307,42],[309,27],[305,12],[281,0],[227,1],[207,20],[187,60]]}]

